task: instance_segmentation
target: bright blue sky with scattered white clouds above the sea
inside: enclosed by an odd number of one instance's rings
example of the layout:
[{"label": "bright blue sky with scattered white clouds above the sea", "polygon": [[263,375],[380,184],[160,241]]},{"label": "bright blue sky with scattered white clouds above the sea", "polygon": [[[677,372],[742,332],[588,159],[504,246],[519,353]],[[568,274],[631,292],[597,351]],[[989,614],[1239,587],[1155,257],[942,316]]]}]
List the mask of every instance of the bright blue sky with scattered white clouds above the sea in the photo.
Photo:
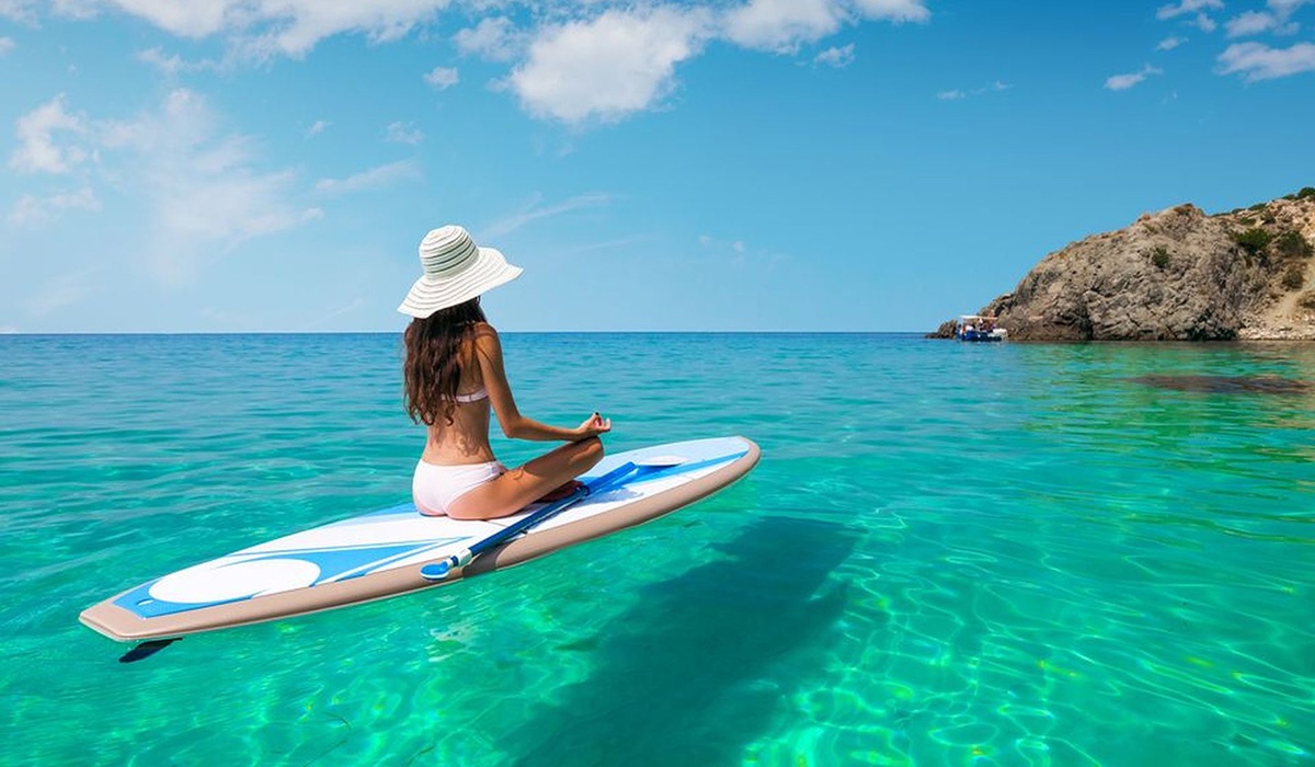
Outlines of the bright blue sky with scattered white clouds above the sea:
[{"label": "bright blue sky with scattered white clouds above the sea", "polygon": [[1315,186],[1315,0],[0,0],[0,330],[926,330]]}]

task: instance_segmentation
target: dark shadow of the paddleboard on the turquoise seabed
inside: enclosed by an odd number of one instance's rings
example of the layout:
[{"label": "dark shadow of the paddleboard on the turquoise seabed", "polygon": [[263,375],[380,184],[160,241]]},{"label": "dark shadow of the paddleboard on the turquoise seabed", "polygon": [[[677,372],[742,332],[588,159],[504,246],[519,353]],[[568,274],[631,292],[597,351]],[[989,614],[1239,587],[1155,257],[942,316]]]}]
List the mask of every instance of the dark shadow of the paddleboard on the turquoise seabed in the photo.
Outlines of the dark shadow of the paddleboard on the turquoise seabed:
[{"label": "dark shadow of the paddleboard on the turquoise seabed", "polygon": [[[834,522],[763,518],[730,557],[644,588],[598,633],[597,670],[501,739],[513,764],[739,764],[802,681],[772,666],[839,620],[846,588],[817,593],[853,550]],[[551,660],[548,660],[551,662]]]}]

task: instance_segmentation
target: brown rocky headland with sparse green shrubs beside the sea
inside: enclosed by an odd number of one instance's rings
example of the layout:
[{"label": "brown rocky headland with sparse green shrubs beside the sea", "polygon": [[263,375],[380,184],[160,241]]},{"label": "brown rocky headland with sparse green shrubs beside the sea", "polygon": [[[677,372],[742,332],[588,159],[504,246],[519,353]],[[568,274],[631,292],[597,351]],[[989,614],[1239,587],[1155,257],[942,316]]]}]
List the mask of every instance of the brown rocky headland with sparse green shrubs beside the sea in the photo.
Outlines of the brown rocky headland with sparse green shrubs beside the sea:
[{"label": "brown rocky headland with sparse green shrubs beside the sea", "polygon": [[1047,255],[978,313],[1016,341],[1315,339],[1315,188],[1145,213]]}]

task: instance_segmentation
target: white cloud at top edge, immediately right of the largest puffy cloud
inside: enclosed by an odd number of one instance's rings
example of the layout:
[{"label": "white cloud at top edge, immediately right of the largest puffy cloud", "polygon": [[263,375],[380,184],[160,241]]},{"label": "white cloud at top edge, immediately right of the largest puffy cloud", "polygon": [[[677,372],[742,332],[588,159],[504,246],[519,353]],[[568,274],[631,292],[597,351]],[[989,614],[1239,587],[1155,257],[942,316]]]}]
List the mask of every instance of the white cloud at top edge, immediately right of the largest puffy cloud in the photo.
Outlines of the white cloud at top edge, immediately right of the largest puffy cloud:
[{"label": "white cloud at top edge, immediately right of the largest puffy cloud", "polygon": [[744,47],[793,53],[834,34],[844,21],[836,0],[750,0],[726,13],[725,36]]}]

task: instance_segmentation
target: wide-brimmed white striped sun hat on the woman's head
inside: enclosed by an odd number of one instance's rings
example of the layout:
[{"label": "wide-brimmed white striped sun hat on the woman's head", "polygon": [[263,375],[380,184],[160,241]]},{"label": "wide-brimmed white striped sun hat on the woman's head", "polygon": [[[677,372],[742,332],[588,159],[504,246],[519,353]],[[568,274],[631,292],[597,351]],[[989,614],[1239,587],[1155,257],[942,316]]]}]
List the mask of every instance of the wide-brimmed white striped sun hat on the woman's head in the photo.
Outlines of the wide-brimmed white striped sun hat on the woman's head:
[{"label": "wide-brimmed white striped sun hat on the woman's head", "polygon": [[497,250],[475,245],[466,229],[451,224],[425,235],[419,264],[425,275],[416,280],[397,310],[421,318],[509,283],[522,271]]}]

